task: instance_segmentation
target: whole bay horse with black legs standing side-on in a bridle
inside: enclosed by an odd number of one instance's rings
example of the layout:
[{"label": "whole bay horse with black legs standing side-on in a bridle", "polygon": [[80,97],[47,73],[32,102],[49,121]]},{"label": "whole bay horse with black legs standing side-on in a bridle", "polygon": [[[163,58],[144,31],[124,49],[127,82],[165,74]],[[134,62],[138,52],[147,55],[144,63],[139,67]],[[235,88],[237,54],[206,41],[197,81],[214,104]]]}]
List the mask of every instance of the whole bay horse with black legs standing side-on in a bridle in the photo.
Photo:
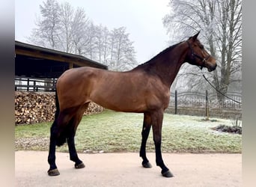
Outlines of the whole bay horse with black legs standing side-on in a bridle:
[{"label": "whole bay horse with black legs standing side-on in a bridle", "polygon": [[209,55],[198,40],[199,32],[127,72],[92,67],[64,72],[56,83],[55,120],[50,129],[49,176],[60,174],[55,164],[55,147],[66,141],[75,168],[85,168],[76,153],[74,136],[89,102],[95,102],[114,111],[144,113],[139,152],[142,166],[152,167],[146,156],[147,137],[152,126],[156,165],[162,169],[163,177],[173,177],[161,153],[162,119],[168,107],[171,84],[185,62],[206,67],[209,72],[216,69],[216,59]]}]

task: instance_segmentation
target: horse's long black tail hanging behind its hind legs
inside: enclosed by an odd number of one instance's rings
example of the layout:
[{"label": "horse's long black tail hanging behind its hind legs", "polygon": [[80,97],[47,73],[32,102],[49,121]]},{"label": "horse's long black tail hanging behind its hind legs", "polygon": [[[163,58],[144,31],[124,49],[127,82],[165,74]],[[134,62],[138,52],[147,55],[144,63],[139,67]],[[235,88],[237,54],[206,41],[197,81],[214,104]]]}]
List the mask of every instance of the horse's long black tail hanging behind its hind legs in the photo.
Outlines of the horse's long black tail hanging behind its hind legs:
[{"label": "horse's long black tail hanging behind its hind legs", "polygon": [[51,133],[54,133],[55,138],[56,138],[56,145],[61,146],[66,142],[67,135],[65,135],[64,129],[60,128],[60,125],[58,124],[58,117],[60,115],[60,105],[58,102],[58,93],[57,93],[57,88],[55,91],[55,106],[56,106],[56,111],[55,111],[55,119],[54,122],[52,123],[52,129]]}]

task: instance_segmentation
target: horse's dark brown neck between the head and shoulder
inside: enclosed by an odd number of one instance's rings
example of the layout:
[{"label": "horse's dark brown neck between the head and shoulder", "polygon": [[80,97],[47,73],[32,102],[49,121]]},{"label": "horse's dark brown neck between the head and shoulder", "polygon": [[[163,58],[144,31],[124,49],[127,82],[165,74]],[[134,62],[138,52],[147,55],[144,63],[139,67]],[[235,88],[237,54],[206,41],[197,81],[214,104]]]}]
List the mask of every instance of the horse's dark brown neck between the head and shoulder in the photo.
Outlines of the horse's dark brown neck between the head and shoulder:
[{"label": "horse's dark brown neck between the head and shoulder", "polygon": [[186,46],[176,46],[170,52],[166,52],[165,55],[152,59],[151,68],[155,69],[154,73],[169,88],[171,88],[171,84],[174,82],[181,65],[185,62],[186,51]]}]

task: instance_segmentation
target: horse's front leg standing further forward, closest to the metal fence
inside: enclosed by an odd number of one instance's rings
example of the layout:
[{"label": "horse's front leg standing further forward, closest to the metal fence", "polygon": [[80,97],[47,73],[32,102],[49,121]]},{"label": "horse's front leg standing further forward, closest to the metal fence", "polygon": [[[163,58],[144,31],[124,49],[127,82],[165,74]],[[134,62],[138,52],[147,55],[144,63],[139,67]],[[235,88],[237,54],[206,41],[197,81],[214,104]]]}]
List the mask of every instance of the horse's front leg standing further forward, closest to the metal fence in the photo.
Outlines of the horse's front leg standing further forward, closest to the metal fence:
[{"label": "horse's front leg standing further forward, closest to the metal fence", "polygon": [[173,174],[171,174],[171,172],[165,166],[162,160],[161,141],[163,111],[153,112],[153,114],[151,115],[151,119],[153,126],[153,141],[156,149],[156,165],[158,165],[162,169],[161,174],[163,177],[173,177]]}]

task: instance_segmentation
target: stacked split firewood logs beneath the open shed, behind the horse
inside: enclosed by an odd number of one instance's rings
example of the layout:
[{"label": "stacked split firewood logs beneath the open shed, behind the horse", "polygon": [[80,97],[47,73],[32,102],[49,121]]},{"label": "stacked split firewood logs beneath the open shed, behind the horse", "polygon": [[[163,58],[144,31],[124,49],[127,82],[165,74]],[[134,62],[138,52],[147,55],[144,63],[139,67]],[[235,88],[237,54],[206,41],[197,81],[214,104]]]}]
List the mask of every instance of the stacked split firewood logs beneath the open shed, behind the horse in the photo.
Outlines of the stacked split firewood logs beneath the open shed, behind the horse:
[{"label": "stacked split firewood logs beneath the open shed, behind the horse", "polygon": [[[85,115],[103,111],[103,107],[90,103]],[[15,124],[52,122],[55,115],[55,93],[15,92]]]}]

